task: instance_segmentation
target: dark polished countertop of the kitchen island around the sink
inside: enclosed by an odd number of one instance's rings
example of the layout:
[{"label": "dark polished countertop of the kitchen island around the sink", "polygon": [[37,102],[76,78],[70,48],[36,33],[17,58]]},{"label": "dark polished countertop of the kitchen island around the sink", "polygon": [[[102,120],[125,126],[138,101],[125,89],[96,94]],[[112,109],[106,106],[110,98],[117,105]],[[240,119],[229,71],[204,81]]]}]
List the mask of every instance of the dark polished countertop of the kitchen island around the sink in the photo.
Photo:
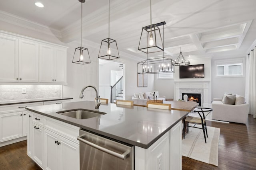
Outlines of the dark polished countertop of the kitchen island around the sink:
[{"label": "dark polished countertop of the kitchen island around the sink", "polygon": [[62,105],[34,106],[26,109],[112,139],[147,149],[181,121],[187,111],[153,109],[140,106],[101,104],[106,114],[89,119],[75,119],[56,113],[70,109],[94,110],[94,102],[71,102]]}]

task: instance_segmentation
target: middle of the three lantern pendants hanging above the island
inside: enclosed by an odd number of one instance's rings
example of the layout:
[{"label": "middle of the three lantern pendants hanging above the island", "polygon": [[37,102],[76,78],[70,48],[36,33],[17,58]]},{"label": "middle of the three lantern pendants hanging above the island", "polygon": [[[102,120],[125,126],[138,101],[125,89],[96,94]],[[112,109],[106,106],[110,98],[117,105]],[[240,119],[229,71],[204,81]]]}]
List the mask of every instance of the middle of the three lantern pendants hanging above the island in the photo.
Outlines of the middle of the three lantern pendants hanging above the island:
[{"label": "middle of the three lantern pendants hanging above the island", "polygon": [[110,38],[110,0],[108,0],[108,38],[103,39],[100,44],[98,58],[113,60],[119,59],[118,47],[116,40]]}]

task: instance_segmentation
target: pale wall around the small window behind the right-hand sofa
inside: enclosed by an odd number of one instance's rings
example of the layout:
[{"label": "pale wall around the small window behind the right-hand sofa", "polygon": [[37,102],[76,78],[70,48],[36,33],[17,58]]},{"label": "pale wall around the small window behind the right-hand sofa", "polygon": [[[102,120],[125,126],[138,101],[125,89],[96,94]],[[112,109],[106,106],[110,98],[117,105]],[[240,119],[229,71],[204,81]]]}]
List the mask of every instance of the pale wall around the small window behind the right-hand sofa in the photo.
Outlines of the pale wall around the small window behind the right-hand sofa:
[{"label": "pale wall around the small window behind the right-hand sofa", "polygon": [[[245,57],[241,58],[245,59]],[[246,65],[244,66],[244,68],[245,67]],[[215,78],[214,73],[214,60],[212,60],[212,99],[222,98],[225,92],[245,96],[245,76]],[[243,75],[245,75],[245,73]]]}]

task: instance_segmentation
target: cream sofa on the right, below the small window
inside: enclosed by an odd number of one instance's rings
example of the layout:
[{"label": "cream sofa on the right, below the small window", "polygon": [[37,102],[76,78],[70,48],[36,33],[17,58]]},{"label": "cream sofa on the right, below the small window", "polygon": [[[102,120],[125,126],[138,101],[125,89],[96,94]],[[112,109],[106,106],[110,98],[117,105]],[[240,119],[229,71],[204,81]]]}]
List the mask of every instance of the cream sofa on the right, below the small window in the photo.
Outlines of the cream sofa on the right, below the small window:
[{"label": "cream sofa on the right, below the small window", "polygon": [[[242,96],[236,95],[241,99]],[[243,97],[242,97],[243,98]],[[237,103],[237,102],[235,102]],[[249,113],[249,104],[223,104],[222,99],[213,99],[212,119],[236,123],[246,123]]]}]

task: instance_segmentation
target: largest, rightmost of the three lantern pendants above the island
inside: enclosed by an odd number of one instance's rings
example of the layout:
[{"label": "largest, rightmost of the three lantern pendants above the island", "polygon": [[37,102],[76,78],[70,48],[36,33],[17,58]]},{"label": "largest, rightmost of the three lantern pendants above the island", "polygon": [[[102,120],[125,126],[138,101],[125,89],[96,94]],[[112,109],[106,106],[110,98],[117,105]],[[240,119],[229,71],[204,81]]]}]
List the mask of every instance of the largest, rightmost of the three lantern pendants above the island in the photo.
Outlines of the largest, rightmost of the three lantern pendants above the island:
[{"label": "largest, rightmost of the three lantern pendants above the island", "polygon": [[142,27],[140,35],[140,43],[138,50],[144,53],[155,53],[164,51],[163,40],[159,29],[160,25],[166,24],[157,23],[152,24],[151,0],[150,0],[150,25]]}]

